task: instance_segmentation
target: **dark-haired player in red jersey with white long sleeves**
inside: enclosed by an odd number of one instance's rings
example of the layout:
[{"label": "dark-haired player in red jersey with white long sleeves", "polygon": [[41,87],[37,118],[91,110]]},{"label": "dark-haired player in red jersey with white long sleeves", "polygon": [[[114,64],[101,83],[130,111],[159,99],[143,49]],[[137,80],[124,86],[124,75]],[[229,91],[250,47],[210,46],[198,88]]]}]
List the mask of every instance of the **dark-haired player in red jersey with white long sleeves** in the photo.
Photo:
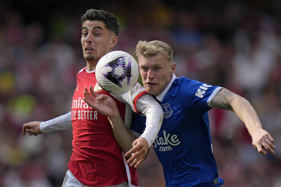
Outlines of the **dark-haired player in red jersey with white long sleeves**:
[{"label": "dark-haired player in red jersey with white long sleeves", "polygon": [[[93,90],[105,94],[117,103],[121,120],[130,127],[132,113],[142,112],[148,120],[146,130],[135,140],[140,157],[144,160],[160,129],[163,112],[160,105],[137,83],[122,95],[104,91],[95,78],[95,67],[99,59],[112,51],[118,42],[119,23],[112,13],[103,10],[88,10],[81,18],[81,44],[87,66],[77,74],[71,112],[47,122],[29,122],[23,125],[23,135],[42,134],[54,130],[73,128],[73,153],[63,187],[86,186],[138,186],[136,169],[128,166],[116,139],[115,129],[108,118],[83,101],[84,87],[93,85]],[[132,147],[132,145],[130,145]]]}]

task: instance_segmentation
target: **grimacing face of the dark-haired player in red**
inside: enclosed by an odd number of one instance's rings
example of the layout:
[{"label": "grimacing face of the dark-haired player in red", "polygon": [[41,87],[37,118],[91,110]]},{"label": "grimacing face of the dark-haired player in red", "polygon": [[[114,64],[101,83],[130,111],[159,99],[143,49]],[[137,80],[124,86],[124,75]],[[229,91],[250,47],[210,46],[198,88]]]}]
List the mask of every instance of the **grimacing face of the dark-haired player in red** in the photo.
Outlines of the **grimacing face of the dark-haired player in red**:
[{"label": "grimacing face of the dark-haired player in red", "polygon": [[114,37],[115,34],[106,29],[104,22],[86,20],[82,25],[81,37],[85,60],[96,64],[104,54],[112,51],[116,45],[112,42]]}]

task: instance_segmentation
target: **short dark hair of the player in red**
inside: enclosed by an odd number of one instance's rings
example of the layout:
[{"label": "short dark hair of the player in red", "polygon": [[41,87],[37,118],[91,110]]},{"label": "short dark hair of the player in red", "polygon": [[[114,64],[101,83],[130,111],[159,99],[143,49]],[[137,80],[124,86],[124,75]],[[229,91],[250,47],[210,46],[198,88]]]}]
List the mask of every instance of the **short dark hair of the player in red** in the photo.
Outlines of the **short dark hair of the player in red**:
[{"label": "short dark hair of the player in red", "polygon": [[118,36],[119,30],[120,30],[120,25],[117,22],[117,19],[115,18],[114,14],[104,11],[104,10],[90,9],[90,10],[87,10],[87,12],[82,15],[82,17],[81,17],[82,25],[86,20],[103,21],[105,27],[108,30],[114,31],[116,36]]}]

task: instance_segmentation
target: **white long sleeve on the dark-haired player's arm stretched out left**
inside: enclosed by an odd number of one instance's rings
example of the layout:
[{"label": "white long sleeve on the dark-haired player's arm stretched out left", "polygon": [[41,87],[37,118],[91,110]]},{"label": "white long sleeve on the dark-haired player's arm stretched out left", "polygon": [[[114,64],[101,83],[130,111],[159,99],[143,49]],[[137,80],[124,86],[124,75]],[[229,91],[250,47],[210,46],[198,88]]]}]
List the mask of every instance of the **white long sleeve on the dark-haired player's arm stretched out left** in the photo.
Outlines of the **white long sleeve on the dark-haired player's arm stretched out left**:
[{"label": "white long sleeve on the dark-haired player's arm stretched out left", "polygon": [[71,129],[71,128],[72,128],[71,112],[68,112],[65,115],[56,117],[52,120],[40,123],[40,130],[44,133],[51,132],[51,131],[57,131],[57,130],[66,130],[66,129]]}]

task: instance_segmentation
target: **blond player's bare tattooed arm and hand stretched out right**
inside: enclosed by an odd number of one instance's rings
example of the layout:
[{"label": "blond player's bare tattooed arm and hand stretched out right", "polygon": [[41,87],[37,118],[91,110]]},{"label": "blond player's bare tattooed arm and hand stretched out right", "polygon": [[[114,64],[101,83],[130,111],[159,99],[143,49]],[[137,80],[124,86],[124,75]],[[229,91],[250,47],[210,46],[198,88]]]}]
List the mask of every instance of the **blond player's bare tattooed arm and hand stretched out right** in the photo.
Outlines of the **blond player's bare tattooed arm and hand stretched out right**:
[{"label": "blond player's bare tattooed arm and hand stretched out right", "polygon": [[267,152],[264,149],[266,149],[269,153],[275,154],[274,140],[267,131],[263,130],[258,115],[249,101],[222,88],[211,100],[211,105],[215,108],[234,111],[248,129],[252,144],[258,152],[265,155]]}]

